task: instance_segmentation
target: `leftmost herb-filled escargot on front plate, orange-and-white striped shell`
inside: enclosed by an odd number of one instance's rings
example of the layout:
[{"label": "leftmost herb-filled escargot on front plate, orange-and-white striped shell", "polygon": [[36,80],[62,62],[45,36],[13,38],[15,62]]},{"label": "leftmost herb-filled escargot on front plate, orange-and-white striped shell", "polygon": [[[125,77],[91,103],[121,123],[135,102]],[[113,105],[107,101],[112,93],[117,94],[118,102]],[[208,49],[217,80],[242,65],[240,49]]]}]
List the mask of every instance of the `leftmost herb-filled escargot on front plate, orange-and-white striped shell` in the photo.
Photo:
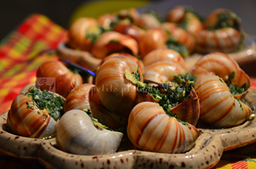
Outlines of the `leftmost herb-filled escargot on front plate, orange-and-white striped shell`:
[{"label": "leftmost herb-filled escargot on front plate, orange-and-white striped shell", "polygon": [[56,93],[31,87],[12,102],[7,126],[12,133],[24,137],[55,136],[64,102]]}]

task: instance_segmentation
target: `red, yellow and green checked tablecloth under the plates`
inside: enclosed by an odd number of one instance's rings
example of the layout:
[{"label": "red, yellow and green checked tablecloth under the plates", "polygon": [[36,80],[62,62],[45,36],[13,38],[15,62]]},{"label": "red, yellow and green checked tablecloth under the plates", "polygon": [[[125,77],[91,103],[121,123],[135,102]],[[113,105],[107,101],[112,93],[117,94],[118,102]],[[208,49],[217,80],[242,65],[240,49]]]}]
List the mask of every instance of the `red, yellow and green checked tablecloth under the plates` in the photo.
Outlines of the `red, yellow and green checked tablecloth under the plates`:
[{"label": "red, yellow and green checked tablecloth under the plates", "polygon": [[[0,42],[0,114],[8,110],[26,84],[33,82],[37,66],[57,56],[51,50],[67,39],[67,30],[41,14],[32,14]],[[252,87],[256,89],[256,80]],[[36,164],[35,164],[36,165]],[[0,154],[0,168],[35,168],[18,158]],[[36,168],[43,168],[38,165]],[[224,152],[214,168],[256,168],[256,143]]]}]

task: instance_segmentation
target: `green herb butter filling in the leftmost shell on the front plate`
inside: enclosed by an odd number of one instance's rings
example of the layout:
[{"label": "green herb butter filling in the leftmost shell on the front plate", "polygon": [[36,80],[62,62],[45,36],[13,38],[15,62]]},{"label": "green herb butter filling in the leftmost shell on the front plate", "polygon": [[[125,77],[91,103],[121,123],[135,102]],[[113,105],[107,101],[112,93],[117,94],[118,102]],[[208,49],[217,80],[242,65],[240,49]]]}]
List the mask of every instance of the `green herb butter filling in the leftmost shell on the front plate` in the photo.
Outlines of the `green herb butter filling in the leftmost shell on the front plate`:
[{"label": "green herb butter filling in the leftmost shell on the front plate", "polygon": [[[49,115],[55,120],[60,118],[64,104],[64,101],[60,96],[51,93],[48,90],[41,90],[36,87],[31,87],[29,92],[26,92],[25,95],[28,95],[33,102],[27,102],[28,108],[33,109],[33,107],[36,106],[39,110],[47,109]],[[40,112],[37,113],[40,114]],[[42,115],[47,116],[46,114]]]}]

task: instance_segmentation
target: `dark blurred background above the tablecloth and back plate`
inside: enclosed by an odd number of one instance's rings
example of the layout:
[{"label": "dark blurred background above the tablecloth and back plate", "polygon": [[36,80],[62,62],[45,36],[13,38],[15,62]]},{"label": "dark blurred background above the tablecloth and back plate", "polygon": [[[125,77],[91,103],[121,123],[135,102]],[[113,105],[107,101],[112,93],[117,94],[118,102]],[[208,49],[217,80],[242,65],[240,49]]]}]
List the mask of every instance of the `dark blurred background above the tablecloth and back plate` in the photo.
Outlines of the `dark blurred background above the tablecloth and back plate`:
[{"label": "dark blurred background above the tablecloth and back plate", "polygon": [[[99,0],[98,0],[99,1]],[[101,0],[102,1],[102,0]],[[129,1],[129,0],[120,0]],[[137,0],[140,1],[140,0]],[[81,4],[90,1],[73,0],[1,0],[0,1],[0,40],[32,13],[48,16],[63,28],[68,28],[71,14]],[[95,2],[95,1],[94,1]],[[227,8],[235,12],[242,20],[242,28],[248,34],[256,35],[255,0],[168,0],[152,1],[146,9],[155,9],[162,16],[176,5],[188,5],[205,16],[217,8]],[[143,11],[139,8],[139,11]]]}]

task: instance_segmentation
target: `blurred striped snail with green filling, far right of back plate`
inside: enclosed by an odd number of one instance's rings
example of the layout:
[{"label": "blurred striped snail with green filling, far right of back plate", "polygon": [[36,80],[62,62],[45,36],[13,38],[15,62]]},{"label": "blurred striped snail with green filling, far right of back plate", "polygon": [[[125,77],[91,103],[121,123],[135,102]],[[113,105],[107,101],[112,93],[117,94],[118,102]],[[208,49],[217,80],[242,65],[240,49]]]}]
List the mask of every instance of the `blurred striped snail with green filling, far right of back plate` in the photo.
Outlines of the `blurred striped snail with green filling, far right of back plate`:
[{"label": "blurred striped snail with green filling, far right of back plate", "polygon": [[230,53],[242,47],[241,19],[233,12],[227,9],[212,12],[205,20],[205,27],[197,36],[197,52]]}]

